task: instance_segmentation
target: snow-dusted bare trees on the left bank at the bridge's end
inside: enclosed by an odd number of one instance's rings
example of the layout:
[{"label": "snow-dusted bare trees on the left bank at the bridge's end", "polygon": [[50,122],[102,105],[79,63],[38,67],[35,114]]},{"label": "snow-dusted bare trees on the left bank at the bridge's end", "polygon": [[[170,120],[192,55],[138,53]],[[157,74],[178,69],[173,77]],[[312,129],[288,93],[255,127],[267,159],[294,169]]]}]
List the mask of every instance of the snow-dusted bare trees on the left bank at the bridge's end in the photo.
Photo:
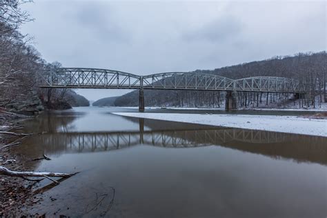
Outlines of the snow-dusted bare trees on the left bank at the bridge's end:
[{"label": "snow-dusted bare trees on the left bank at the bridge's end", "polygon": [[0,107],[14,112],[39,112],[46,108],[88,106],[88,100],[73,90],[42,90],[42,72],[59,68],[58,62],[48,63],[32,46],[33,38],[19,30],[32,21],[21,9],[28,1],[0,1]]}]

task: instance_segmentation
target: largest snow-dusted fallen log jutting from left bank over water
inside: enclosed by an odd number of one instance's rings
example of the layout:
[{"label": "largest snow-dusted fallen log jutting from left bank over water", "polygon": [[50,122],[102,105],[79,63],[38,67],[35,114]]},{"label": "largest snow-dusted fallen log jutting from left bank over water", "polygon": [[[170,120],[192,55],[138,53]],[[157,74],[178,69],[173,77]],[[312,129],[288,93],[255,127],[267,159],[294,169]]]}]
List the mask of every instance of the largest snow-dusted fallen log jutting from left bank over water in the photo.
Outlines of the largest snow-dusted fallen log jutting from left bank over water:
[{"label": "largest snow-dusted fallen log jutting from left bank over water", "polygon": [[61,173],[61,172],[19,172],[19,171],[12,171],[8,168],[5,168],[3,166],[0,166],[0,175],[7,175],[10,177],[63,177],[68,178],[73,175],[76,175],[75,173]]}]

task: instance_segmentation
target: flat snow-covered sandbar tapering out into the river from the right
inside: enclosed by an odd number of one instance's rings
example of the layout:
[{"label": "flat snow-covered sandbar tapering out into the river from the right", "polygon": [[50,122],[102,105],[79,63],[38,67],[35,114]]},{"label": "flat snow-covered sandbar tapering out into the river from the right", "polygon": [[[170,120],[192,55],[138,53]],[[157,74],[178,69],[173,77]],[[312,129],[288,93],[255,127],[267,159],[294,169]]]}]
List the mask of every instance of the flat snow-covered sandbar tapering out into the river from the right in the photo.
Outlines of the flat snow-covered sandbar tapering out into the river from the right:
[{"label": "flat snow-covered sandbar tapering out into the river from the right", "polygon": [[273,132],[288,132],[301,135],[316,135],[327,137],[326,119],[308,119],[295,116],[199,115],[147,112],[113,112],[113,114],[127,117],[139,117],[184,123],[199,123],[211,126],[244,128],[250,130],[267,130]]}]

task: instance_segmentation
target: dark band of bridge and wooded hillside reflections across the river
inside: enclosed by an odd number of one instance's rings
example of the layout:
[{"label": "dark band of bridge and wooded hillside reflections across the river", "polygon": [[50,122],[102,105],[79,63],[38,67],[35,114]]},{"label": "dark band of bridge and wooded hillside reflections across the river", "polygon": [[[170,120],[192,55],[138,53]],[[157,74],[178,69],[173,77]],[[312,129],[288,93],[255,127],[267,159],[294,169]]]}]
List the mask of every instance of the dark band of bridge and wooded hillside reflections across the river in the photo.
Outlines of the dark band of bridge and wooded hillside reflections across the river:
[{"label": "dark band of bridge and wooded hillside reflections across the river", "polygon": [[[79,132],[72,126],[72,121],[79,119],[83,113],[66,116],[47,116],[36,119],[36,130],[47,130],[41,135],[26,140],[30,152],[30,144],[37,145],[39,152],[48,155],[80,152],[106,152],[131,146],[148,145],[164,148],[195,148],[203,146],[223,146],[267,155],[276,159],[294,159],[299,162],[313,162],[327,165],[327,139],[304,135],[244,130],[236,128],[217,128],[196,124],[174,123],[119,117],[138,128],[134,130],[108,132]],[[115,116],[115,115],[112,115]],[[115,116],[116,117],[116,116]],[[45,128],[47,127],[47,128]],[[35,149],[32,150],[35,154]],[[26,154],[28,155],[28,154]]]}]

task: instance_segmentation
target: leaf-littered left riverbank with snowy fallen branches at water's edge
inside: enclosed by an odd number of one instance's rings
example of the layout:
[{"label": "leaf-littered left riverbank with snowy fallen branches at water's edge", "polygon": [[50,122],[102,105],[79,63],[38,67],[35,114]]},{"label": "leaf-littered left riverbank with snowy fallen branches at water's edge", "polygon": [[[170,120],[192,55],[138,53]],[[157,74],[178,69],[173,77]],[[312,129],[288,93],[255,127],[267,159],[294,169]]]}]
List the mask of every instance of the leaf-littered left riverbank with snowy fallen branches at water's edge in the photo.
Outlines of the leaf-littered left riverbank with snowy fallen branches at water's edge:
[{"label": "leaf-littered left riverbank with snowy fallen branches at water's edge", "polygon": [[[35,117],[18,115],[3,109],[0,111],[0,217],[43,217],[39,215],[39,211],[29,212],[26,208],[41,204],[43,192],[77,174],[35,170],[43,159],[51,160],[42,147],[37,150],[28,147],[29,154],[32,155],[17,152],[21,146],[26,146],[26,141],[29,140],[26,137],[40,137],[46,133],[37,132],[37,128],[28,128],[26,119],[32,122]],[[41,184],[43,179],[48,179],[50,183]]]}]

